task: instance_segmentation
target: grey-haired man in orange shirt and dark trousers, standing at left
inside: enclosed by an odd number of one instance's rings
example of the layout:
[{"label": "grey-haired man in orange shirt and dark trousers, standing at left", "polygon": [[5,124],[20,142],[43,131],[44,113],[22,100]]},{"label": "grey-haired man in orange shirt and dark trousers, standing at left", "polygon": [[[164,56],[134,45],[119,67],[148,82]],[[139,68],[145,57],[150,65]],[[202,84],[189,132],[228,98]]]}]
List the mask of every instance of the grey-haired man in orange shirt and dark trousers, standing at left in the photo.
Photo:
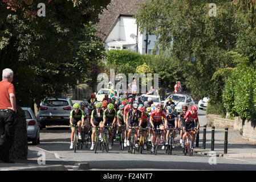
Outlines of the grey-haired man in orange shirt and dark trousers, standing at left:
[{"label": "grey-haired man in orange shirt and dark trousers, standing at left", "polygon": [[9,151],[14,143],[14,121],[17,113],[15,89],[13,84],[13,71],[3,69],[2,81],[0,82],[0,160],[5,163],[14,163],[9,158]]}]

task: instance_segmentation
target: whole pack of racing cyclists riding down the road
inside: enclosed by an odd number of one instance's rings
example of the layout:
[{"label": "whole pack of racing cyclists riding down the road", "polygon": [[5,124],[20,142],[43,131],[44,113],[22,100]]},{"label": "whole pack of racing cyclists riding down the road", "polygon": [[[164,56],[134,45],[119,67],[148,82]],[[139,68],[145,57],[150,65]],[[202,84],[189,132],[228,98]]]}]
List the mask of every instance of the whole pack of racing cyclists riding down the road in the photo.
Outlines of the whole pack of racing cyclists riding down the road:
[{"label": "whole pack of racing cyclists riding down the road", "polygon": [[[71,145],[70,149],[74,147],[74,133],[75,126],[78,126],[78,139],[82,139],[81,129],[86,133],[91,134],[91,148],[95,147],[96,130],[100,131],[99,139],[102,140],[104,126],[109,127],[108,149],[111,150],[112,129],[117,126],[116,138],[120,138],[120,133],[124,131],[124,147],[130,146],[130,138],[132,127],[135,128],[135,147],[139,147],[137,142],[141,129],[143,130],[144,141],[148,137],[151,142],[151,152],[154,152],[154,143],[156,139],[156,129],[161,130],[161,144],[162,150],[168,144],[169,128],[172,128],[172,138],[175,137],[174,131],[180,131],[180,143],[184,148],[184,141],[188,135],[189,130],[192,131],[192,149],[196,132],[199,130],[199,122],[197,117],[197,106],[193,105],[182,107],[182,113],[178,114],[175,109],[175,104],[172,98],[164,104],[155,105],[150,97],[148,101],[141,101],[140,97],[134,101],[132,97],[119,98],[106,96],[102,102],[96,100],[95,94],[91,94],[90,101],[82,101],[80,104],[74,104],[74,110],[70,112],[70,126],[71,126]],[[147,149],[146,144],[143,146]],[[174,145],[172,145],[174,148]]]}]

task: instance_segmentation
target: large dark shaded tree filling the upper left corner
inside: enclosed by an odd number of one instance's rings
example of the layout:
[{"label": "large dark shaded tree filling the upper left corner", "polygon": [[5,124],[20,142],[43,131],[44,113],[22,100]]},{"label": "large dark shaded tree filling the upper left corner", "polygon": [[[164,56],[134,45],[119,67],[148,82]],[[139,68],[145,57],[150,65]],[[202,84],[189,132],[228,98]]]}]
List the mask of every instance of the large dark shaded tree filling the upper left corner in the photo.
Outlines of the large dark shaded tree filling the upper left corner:
[{"label": "large dark shaded tree filling the upper left corner", "polygon": [[[45,3],[46,16],[37,16]],[[18,104],[39,104],[42,98],[59,96],[69,86],[83,82],[92,63],[104,56],[96,37],[98,14],[109,1],[0,2],[1,69],[14,71]]]}]

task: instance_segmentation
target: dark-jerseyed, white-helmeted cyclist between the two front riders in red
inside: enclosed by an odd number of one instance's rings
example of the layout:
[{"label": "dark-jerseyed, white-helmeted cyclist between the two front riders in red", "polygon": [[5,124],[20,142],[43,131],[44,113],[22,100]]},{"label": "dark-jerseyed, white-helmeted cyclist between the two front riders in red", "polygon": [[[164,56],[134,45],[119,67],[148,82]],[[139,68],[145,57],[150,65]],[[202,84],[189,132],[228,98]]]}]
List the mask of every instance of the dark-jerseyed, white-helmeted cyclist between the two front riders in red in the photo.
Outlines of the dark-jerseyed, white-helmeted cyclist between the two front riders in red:
[{"label": "dark-jerseyed, white-helmeted cyclist between the two front riders in red", "polygon": [[[172,129],[177,129],[177,115],[174,113],[173,109],[168,109],[166,114],[166,120],[165,122],[165,129],[169,129],[170,127]],[[167,130],[166,132],[166,143],[165,145],[168,145],[168,136],[169,136],[170,130]],[[172,131],[172,138],[174,139],[174,130]],[[174,148],[174,146],[172,146]]]}]

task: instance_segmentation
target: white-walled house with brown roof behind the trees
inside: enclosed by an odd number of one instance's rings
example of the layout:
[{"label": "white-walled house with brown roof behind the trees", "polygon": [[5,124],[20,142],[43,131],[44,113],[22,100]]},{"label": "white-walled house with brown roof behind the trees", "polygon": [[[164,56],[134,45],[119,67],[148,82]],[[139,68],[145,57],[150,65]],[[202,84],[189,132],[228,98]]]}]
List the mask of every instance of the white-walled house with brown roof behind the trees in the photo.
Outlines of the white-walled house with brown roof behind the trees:
[{"label": "white-walled house with brown roof behind the trees", "polygon": [[140,34],[134,15],[138,4],[148,0],[112,0],[107,10],[99,15],[97,24],[100,38],[103,39],[106,51],[111,49],[129,50],[138,53],[152,54],[157,49],[155,35]]}]

